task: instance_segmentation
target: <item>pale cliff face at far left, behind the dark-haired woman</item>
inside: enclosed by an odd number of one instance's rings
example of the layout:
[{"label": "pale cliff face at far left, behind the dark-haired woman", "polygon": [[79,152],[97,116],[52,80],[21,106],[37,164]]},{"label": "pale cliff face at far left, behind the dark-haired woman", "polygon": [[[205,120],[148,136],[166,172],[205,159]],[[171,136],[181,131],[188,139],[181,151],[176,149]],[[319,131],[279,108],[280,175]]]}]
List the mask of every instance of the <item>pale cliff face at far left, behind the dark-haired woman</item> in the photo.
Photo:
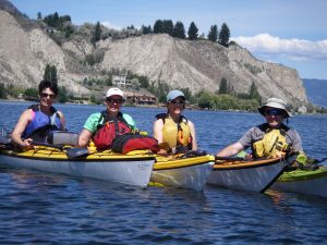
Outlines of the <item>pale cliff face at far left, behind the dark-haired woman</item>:
[{"label": "pale cliff face at far left, behind the dark-haired woman", "polygon": [[47,64],[56,65],[60,84],[75,94],[88,90],[74,81],[80,75],[66,69],[66,57],[40,28],[23,28],[8,12],[0,11],[0,81],[20,87],[36,87]]}]

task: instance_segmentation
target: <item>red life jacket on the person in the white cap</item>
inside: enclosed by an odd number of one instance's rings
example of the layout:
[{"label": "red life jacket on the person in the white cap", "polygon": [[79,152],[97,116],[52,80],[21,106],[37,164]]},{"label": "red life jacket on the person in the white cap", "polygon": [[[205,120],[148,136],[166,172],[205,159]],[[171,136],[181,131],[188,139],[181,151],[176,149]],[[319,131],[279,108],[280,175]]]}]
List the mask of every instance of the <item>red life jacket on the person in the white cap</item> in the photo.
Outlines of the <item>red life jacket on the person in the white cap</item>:
[{"label": "red life jacket on the person in the white cap", "polygon": [[[100,123],[101,121],[104,122]],[[112,147],[112,142],[118,135],[123,135],[131,131],[121,112],[118,113],[116,119],[109,120],[108,112],[102,111],[97,130],[93,135],[93,142],[98,150],[109,149]]]}]

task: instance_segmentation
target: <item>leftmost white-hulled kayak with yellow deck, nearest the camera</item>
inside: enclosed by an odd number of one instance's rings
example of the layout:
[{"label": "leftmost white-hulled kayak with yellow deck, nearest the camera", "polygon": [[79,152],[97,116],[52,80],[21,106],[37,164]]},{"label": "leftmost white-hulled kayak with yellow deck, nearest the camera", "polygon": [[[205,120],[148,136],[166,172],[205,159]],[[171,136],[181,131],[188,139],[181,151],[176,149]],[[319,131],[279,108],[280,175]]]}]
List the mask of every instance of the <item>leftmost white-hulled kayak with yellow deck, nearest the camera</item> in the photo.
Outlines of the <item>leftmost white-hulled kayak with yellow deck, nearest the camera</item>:
[{"label": "leftmost white-hulled kayak with yellow deck, nearest the camera", "polygon": [[82,158],[70,158],[64,150],[35,146],[27,151],[0,149],[0,166],[24,168],[73,176],[93,177],[146,187],[155,163],[147,150],[128,155],[111,151],[95,152]]}]

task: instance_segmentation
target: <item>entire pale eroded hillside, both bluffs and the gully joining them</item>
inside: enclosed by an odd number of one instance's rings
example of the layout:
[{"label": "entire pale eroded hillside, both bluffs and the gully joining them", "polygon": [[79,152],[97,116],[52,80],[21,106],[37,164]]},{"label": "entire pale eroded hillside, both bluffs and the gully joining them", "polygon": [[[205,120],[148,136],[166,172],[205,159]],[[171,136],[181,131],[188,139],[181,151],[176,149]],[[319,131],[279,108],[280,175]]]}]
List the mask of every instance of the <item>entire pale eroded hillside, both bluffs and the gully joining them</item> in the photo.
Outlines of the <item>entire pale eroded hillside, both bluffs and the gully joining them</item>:
[{"label": "entire pale eroded hillside, both bluffs and the gully joining them", "polygon": [[[259,61],[237,45],[225,48],[207,40],[191,41],[161,34],[108,38],[97,42],[96,48],[88,38],[81,37],[59,46],[40,24],[23,25],[16,16],[1,10],[0,33],[0,82],[4,84],[35,86],[49,63],[57,66],[60,84],[75,95],[89,93],[81,85],[84,77],[124,69],[154,83],[165,81],[172,87],[189,87],[192,93],[215,91],[225,77],[238,93],[247,93],[254,82],[263,98],[276,96],[289,103],[307,102],[295,70]],[[104,58],[92,68],[81,65],[90,53],[102,53]]]}]

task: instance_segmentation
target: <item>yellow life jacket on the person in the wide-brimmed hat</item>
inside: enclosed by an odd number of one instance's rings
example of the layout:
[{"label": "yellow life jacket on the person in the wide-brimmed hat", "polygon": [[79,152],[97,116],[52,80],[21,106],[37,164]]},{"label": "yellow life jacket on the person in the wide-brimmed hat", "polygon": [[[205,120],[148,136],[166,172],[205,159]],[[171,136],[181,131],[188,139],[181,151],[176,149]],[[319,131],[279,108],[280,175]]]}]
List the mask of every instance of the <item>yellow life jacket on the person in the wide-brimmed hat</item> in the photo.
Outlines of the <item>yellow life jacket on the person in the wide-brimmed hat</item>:
[{"label": "yellow life jacket on the person in the wide-brimmed hat", "polygon": [[265,123],[262,130],[265,132],[264,137],[252,145],[255,158],[276,157],[278,152],[284,155],[290,150],[286,140],[286,132],[289,127],[282,125],[280,128],[269,128]]}]

